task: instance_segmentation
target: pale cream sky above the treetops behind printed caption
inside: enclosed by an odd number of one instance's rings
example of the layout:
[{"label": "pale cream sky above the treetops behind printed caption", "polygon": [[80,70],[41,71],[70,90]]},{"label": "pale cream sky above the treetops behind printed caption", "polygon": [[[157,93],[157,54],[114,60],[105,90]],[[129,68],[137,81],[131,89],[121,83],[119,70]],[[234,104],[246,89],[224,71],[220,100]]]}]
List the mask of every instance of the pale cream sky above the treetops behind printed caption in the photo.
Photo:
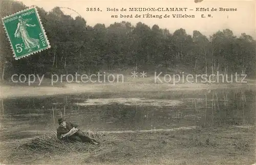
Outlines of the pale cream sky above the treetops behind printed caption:
[{"label": "pale cream sky above the treetops behind printed caption", "polygon": [[[200,31],[202,34],[209,36],[215,32],[223,29],[230,29],[234,35],[240,36],[241,33],[246,33],[253,38],[256,38],[255,27],[255,9],[256,1],[210,1],[204,0],[200,3],[195,3],[194,0],[186,1],[64,1],[64,0],[44,0],[44,1],[33,1],[33,0],[17,0],[23,2],[26,6],[30,7],[35,5],[42,7],[46,11],[52,10],[54,7],[62,7],[62,11],[65,14],[71,15],[72,17],[81,15],[86,21],[87,25],[94,26],[96,23],[104,23],[108,27],[111,23],[129,21],[132,25],[136,25],[137,22],[141,21],[146,25],[152,27],[158,25],[160,28],[168,29],[170,33],[175,30],[183,28],[188,34],[193,34],[194,30]],[[129,8],[188,8],[188,11],[173,11],[173,12],[131,12]],[[65,9],[71,8],[76,12]],[[100,8],[101,12],[98,11],[87,11],[87,8]],[[111,12],[106,11],[106,8],[116,8],[119,11]],[[127,11],[120,11],[121,8],[126,8]],[[218,11],[196,11],[196,8],[217,8]],[[237,11],[219,11],[219,8],[232,8]],[[189,10],[193,9],[193,10]],[[136,14],[154,14],[154,15],[170,15],[169,18],[135,18]],[[120,18],[122,15],[133,15],[133,18]],[[187,14],[195,15],[195,18],[173,18],[172,14]],[[206,17],[202,18],[204,14]],[[207,17],[211,14],[211,17]],[[118,15],[118,18],[112,18],[111,15]]]}]

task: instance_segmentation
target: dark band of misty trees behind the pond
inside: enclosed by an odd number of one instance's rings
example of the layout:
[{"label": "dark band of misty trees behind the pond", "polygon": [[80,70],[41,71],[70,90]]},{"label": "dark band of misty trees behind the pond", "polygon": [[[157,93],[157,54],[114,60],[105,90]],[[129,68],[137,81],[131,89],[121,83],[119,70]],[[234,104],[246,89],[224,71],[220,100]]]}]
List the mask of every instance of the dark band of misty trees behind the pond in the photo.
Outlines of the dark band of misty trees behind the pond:
[{"label": "dark band of misty trees behind the pond", "polygon": [[[24,10],[23,3],[2,1],[1,17]],[[234,36],[229,29],[219,30],[209,37],[195,30],[174,33],[164,27],[149,27],[143,22],[113,22],[109,27],[97,23],[94,27],[77,16],[65,15],[59,7],[50,12],[37,8],[51,49],[15,60],[11,45],[0,26],[1,80],[13,74],[74,74],[90,70],[117,70],[138,67],[185,67],[191,73],[245,73],[255,76],[255,40],[243,32]],[[2,21],[2,20],[1,20]],[[3,22],[1,22],[3,25]]]}]

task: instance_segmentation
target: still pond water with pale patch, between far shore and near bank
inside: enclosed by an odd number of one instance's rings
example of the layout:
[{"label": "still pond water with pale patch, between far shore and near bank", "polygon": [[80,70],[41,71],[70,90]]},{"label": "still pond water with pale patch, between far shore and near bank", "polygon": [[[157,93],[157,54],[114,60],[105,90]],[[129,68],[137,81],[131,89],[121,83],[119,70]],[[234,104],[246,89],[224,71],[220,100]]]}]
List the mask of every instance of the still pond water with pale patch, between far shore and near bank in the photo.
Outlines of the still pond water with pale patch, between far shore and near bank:
[{"label": "still pond water with pale patch, between far shore and near bank", "polygon": [[236,88],[6,99],[0,103],[0,139],[55,131],[61,116],[93,131],[253,125],[255,96],[247,88]]}]

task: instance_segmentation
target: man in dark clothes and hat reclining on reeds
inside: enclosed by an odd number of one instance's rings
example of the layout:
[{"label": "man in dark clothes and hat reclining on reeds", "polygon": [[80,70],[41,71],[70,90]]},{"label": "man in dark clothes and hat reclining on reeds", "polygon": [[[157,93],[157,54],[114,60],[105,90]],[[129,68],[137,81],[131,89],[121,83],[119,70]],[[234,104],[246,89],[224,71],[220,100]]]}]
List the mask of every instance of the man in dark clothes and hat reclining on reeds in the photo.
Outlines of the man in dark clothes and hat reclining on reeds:
[{"label": "man in dark clothes and hat reclining on reeds", "polygon": [[[79,129],[77,129],[78,125],[73,124],[71,122],[67,122],[65,119],[58,119],[58,123],[59,123],[59,127],[57,128],[57,137],[60,140],[67,140],[67,141],[78,141],[78,142],[89,142],[92,144],[97,145],[98,143],[96,142],[95,139],[92,139],[88,136],[86,136],[82,131],[80,131]],[[75,133],[73,133],[72,131],[72,135],[67,135],[67,136],[63,136],[67,133],[69,133],[71,130],[74,130],[73,128],[75,128],[77,131]]]}]

